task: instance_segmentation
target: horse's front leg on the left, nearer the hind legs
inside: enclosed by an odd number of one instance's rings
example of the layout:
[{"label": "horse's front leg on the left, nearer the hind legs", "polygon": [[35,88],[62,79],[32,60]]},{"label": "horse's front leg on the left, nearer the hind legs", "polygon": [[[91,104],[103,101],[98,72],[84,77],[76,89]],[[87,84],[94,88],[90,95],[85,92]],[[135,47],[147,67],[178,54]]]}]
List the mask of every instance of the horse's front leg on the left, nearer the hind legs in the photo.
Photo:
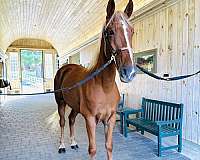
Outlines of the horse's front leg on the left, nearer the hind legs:
[{"label": "horse's front leg on the left, nearer the hind legs", "polygon": [[96,119],[95,117],[87,117],[85,120],[89,140],[88,153],[90,160],[94,160],[96,155]]}]

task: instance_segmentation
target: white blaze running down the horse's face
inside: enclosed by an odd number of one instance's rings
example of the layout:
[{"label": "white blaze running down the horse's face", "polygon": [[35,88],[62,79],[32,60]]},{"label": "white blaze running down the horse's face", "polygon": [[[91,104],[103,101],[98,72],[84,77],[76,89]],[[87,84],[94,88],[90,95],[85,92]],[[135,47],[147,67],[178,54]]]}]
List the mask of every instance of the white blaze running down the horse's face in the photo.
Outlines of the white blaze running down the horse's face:
[{"label": "white blaze running down the horse's face", "polygon": [[128,24],[126,23],[126,20],[124,18],[123,15],[121,15],[122,19],[121,19],[121,23],[122,23],[122,27],[124,29],[124,36],[125,36],[125,40],[126,40],[126,44],[127,44],[127,47],[125,47],[124,49],[128,49],[128,52],[129,52],[129,55],[130,55],[130,58],[131,58],[131,62],[133,64],[133,55],[132,55],[132,48],[131,48],[131,45],[130,45],[130,41],[129,41],[129,38],[128,38],[128,31],[127,31],[127,28],[128,28]]}]

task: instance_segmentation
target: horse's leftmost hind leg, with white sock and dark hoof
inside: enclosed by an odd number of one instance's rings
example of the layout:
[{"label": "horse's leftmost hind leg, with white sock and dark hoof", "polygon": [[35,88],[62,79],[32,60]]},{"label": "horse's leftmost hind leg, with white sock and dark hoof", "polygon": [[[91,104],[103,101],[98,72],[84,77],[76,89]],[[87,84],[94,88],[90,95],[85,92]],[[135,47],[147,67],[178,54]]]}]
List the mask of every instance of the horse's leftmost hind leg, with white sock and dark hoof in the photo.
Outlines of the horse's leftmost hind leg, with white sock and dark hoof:
[{"label": "horse's leftmost hind leg, with white sock and dark hoof", "polygon": [[65,127],[65,106],[64,102],[58,105],[58,113],[60,116],[60,127],[61,127],[61,136],[60,136],[60,146],[59,153],[65,152],[65,144],[64,144],[64,127]]}]

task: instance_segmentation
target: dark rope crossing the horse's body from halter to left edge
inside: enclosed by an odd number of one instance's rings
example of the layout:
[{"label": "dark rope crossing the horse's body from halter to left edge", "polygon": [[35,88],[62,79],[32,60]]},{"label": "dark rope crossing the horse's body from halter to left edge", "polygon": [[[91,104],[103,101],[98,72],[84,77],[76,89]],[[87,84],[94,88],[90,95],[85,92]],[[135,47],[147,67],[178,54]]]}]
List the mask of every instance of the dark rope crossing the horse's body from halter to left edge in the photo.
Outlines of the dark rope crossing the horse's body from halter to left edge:
[{"label": "dark rope crossing the horse's body from halter to left edge", "polygon": [[91,73],[88,77],[86,77],[85,79],[75,83],[74,85],[72,85],[71,87],[68,88],[60,88],[54,91],[49,91],[49,92],[38,92],[38,93],[2,93],[1,95],[6,95],[6,96],[34,96],[34,95],[44,95],[44,94],[51,94],[51,93],[56,93],[56,92],[69,92],[70,90],[80,87],[81,85],[85,84],[87,81],[91,80],[92,78],[94,78],[96,75],[98,75],[100,72],[102,72],[108,65],[110,65],[112,63],[112,61],[114,60],[115,56],[112,56],[111,59],[103,64],[99,69],[97,69],[96,71],[94,71],[93,73]]}]

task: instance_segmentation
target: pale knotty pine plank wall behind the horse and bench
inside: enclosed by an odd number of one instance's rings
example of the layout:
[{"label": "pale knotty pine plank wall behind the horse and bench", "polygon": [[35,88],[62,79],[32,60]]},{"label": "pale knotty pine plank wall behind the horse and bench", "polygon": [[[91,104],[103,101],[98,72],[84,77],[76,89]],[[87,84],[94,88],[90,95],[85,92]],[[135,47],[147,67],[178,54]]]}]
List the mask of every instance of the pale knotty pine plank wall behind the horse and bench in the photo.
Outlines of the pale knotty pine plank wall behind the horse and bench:
[{"label": "pale knotty pine plank wall behind the horse and bench", "polygon": [[[157,75],[191,74],[200,69],[199,0],[169,0],[163,7],[135,16],[133,47],[137,52],[157,49]],[[96,44],[80,49],[81,64],[92,61]],[[95,47],[96,45],[96,47]],[[95,56],[94,56],[95,57]],[[200,76],[177,82],[162,82],[138,74],[129,84],[116,78],[127,105],[138,108],[141,98],[184,104],[184,139],[200,144]]]}]

